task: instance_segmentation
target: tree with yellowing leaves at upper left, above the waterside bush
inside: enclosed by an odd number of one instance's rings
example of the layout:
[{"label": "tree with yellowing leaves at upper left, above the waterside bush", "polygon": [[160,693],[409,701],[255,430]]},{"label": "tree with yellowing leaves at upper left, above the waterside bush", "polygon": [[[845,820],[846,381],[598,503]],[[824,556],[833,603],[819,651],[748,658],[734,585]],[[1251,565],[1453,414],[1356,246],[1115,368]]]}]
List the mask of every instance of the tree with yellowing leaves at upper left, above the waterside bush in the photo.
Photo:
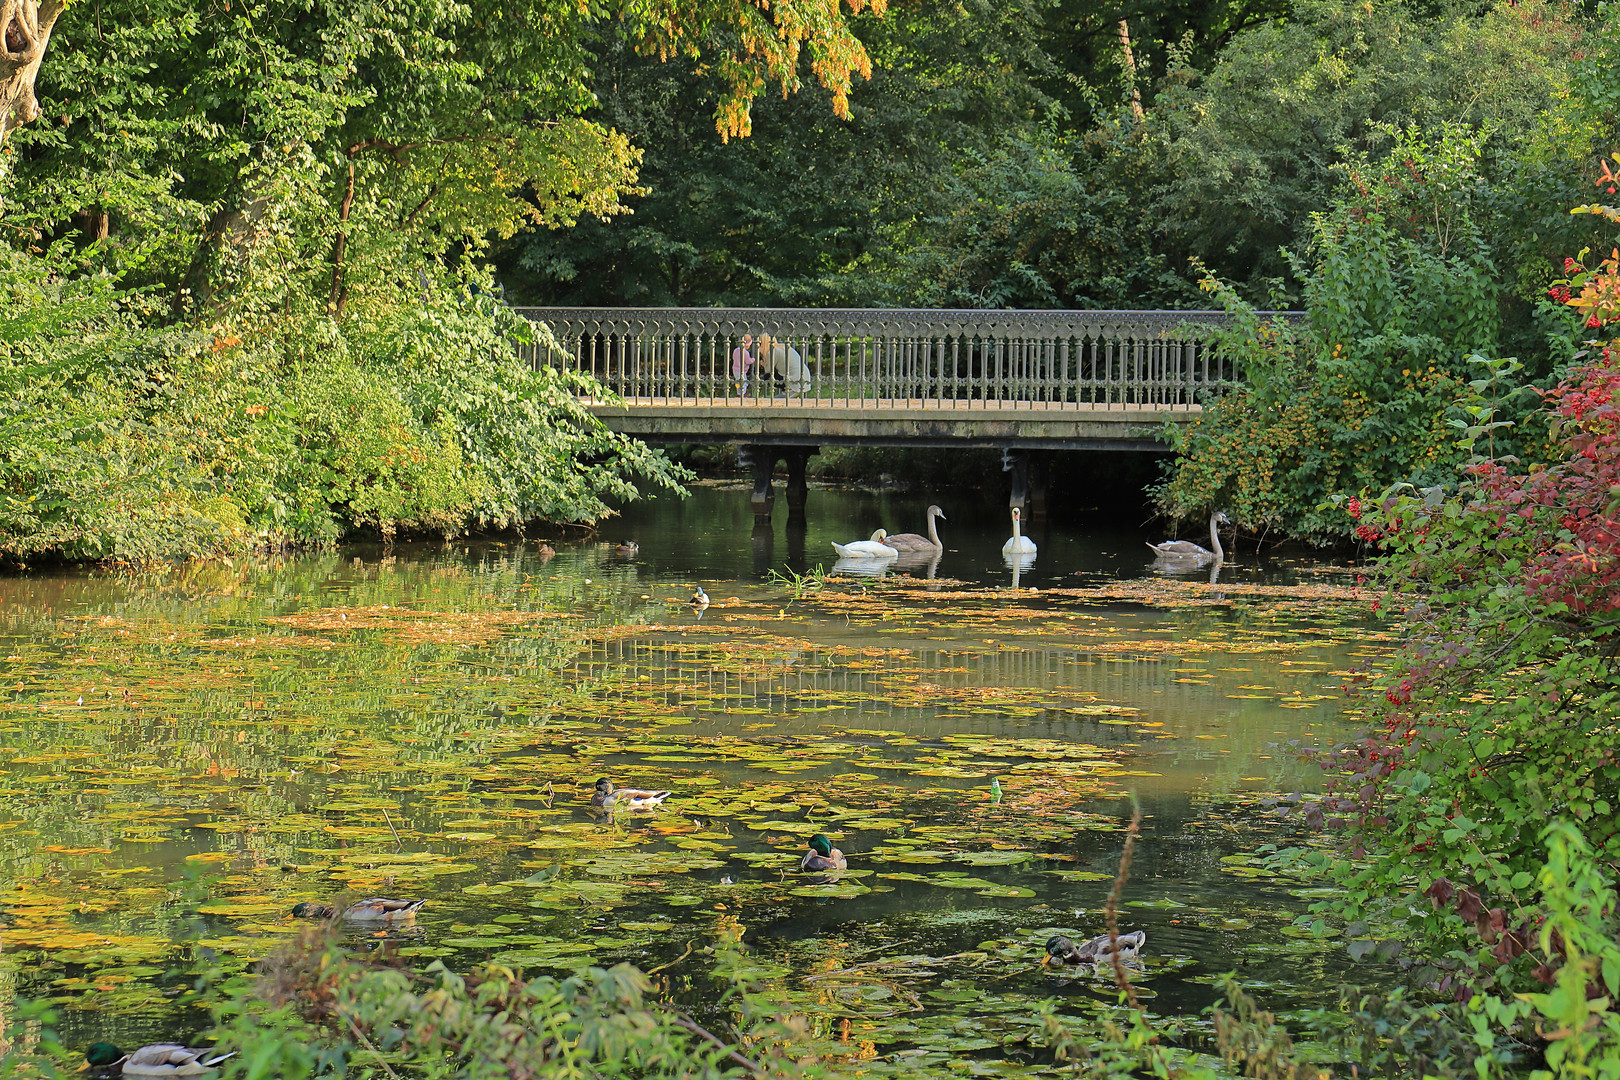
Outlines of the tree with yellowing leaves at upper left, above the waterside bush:
[{"label": "tree with yellowing leaves at upper left, above the waterside bush", "polygon": [[89,222],[109,266],[159,277],[177,313],[343,313],[489,236],[622,210],[638,155],[582,117],[603,34],[710,66],[732,138],[802,66],[847,112],[872,70],[847,13],[867,10],[883,0],[107,0],[58,34],[40,81],[57,123],[21,139],[16,185],[45,198],[10,217]]}]

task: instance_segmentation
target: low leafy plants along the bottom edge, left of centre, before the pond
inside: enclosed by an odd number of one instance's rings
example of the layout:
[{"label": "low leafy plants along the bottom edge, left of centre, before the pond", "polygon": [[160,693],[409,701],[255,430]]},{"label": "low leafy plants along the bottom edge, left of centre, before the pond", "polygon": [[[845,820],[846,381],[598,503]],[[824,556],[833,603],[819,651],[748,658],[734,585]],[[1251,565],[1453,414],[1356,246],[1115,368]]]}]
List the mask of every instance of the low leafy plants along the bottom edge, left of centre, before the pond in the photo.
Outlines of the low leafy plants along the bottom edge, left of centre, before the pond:
[{"label": "low leafy plants along the bottom edge, left of centre, before the pond", "polygon": [[[227,1080],[797,1075],[795,1028],[723,975],[734,949],[716,947],[716,973],[732,986],[735,1043],[654,994],[630,965],[552,978],[499,965],[457,975],[434,962],[418,973],[309,934],[267,957],[258,980],[204,984],[202,1004],[211,1040],[235,1051],[219,1065]],[[21,1006],[0,1041],[0,1077],[71,1075],[52,1020],[39,1004]]]}]

